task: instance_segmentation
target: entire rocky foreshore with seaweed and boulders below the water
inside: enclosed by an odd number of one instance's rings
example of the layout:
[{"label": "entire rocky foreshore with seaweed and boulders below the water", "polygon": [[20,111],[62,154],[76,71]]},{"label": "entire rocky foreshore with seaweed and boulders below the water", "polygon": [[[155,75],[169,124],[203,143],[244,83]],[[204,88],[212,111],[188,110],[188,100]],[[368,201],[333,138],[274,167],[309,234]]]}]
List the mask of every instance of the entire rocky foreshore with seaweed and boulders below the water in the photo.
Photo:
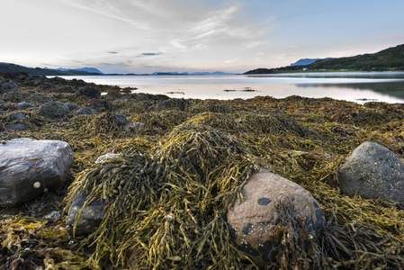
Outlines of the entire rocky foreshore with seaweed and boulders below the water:
[{"label": "entire rocky foreshore with seaweed and boulders below the water", "polygon": [[1,269],[400,269],[404,104],[0,74]]}]

